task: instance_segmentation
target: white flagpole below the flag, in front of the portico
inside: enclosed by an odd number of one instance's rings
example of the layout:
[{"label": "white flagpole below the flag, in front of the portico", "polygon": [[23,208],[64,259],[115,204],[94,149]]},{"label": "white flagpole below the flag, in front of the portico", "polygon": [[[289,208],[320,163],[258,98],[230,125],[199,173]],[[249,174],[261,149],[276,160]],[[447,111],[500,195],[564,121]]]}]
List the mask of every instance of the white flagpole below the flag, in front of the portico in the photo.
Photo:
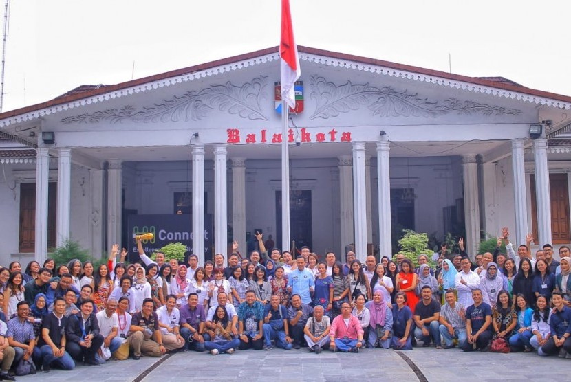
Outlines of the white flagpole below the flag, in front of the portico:
[{"label": "white flagpole below the flag, in front of the portico", "polygon": [[[281,248],[290,245],[290,152],[288,146],[288,113],[290,107],[281,100]],[[294,254],[292,254],[293,256]],[[295,257],[295,256],[294,256]]]}]

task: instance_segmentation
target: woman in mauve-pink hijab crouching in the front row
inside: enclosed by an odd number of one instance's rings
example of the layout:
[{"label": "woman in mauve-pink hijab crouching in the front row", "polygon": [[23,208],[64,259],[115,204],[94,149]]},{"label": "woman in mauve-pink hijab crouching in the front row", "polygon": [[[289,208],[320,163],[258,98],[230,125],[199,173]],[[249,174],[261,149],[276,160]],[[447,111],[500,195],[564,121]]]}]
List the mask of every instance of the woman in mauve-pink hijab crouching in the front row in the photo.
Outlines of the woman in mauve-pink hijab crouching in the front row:
[{"label": "woman in mauve-pink hijab crouching in the front row", "polygon": [[385,295],[375,289],[373,300],[367,303],[369,308],[369,340],[367,347],[388,349],[391,347],[393,313],[385,302]]}]

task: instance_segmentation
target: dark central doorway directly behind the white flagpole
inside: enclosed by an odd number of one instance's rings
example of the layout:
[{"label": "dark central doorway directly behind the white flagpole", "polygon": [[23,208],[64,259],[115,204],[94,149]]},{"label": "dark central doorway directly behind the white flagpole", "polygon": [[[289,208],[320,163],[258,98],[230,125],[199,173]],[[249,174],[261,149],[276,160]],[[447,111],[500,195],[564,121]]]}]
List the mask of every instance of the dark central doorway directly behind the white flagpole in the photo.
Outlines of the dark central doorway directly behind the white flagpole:
[{"label": "dark central doorway directly behind the white flagpole", "polygon": [[[311,191],[290,191],[290,237],[295,247],[312,248]],[[281,246],[281,191],[276,191],[276,245]],[[291,246],[291,243],[290,243]],[[282,251],[290,248],[282,248]],[[295,258],[295,254],[292,254]]]}]

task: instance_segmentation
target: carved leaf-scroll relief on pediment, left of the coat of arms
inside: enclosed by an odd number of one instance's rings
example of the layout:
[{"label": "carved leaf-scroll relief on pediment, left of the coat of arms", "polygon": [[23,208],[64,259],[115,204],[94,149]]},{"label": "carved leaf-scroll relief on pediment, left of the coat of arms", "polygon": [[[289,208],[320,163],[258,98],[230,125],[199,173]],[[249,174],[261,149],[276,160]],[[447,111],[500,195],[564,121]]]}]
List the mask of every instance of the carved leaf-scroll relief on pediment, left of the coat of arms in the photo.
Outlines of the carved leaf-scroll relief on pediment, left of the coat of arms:
[{"label": "carved leaf-scroll relief on pediment, left of the coat of arms", "polygon": [[228,81],[226,85],[211,85],[200,91],[193,90],[183,95],[174,95],[152,106],[127,105],[121,109],[106,109],[66,117],[61,122],[64,124],[96,124],[103,121],[118,123],[125,120],[142,123],[181,122],[202,120],[214,109],[239,115],[248,120],[268,120],[260,107],[260,101],[267,95],[266,87],[266,76],[259,76],[241,86]]}]

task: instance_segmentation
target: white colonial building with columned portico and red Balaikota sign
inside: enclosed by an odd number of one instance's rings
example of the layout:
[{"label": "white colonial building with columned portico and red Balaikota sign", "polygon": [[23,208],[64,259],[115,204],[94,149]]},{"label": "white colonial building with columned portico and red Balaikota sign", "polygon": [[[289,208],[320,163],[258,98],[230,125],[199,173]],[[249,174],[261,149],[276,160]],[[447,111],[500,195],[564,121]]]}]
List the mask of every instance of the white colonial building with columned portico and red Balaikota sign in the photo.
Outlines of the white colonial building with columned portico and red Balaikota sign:
[{"label": "white colonial building with columned portico and red Balaikota sign", "polygon": [[[503,226],[514,243],[528,232],[536,245],[570,243],[571,97],[299,52],[303,102],[288,135],[298,247],[340,255],[354,243],[364,258],[390,254],[402,228],[465,229],[475,254]],[[239,240],[244,252],[256,229],[282,247],[277,81],[275,47],[0,114],[0,264],[43,260],[67,238],[95,256],[112,243],[132,253],[133,231],[155,233],[149,251],[183,241],[208,257]]]}]

